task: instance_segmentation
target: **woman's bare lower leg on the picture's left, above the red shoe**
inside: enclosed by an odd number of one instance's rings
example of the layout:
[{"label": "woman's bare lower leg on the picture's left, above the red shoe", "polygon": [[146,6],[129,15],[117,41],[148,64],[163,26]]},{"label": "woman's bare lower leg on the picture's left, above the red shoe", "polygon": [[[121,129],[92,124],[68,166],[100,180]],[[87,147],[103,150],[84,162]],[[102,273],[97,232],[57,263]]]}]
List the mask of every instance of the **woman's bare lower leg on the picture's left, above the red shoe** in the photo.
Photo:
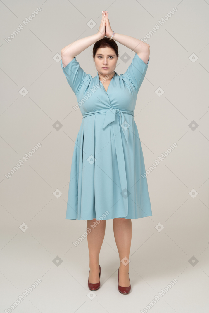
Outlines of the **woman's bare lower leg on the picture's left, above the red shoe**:
[{"label": "woman's bare lower leg on the picture's left, above the red shoe", "polygon": [[[95,223],[94,223],[95,222]],[[100,221],[97,224],[96,218],[87,221],[86,228],[90,228],[91,232],[88,234],[88,249],[89,249],[89,282],[96,284],[99,282],[99,253],[102,247],[103,238],[105,235],[106,220]],[[93,227],[91,227],[91,224]],[[95,225],[95,226],[94,226]],[[97,225],[97,226],[96,226]]]}]

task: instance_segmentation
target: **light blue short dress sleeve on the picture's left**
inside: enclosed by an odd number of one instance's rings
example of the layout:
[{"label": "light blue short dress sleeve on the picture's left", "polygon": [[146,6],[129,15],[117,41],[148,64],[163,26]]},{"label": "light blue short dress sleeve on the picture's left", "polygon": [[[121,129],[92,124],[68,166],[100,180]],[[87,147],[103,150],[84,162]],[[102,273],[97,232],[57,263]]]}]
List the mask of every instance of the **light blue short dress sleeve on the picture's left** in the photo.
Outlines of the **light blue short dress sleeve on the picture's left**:
[{"label": "light blue short dress sleeve on the picture's left", "polygon": [[65,67],[63,67],[62,59],[60,60],[60,64],[68,84],[76,95],[84,83],[87,76],[86,72],[81,69],[76,57],[74,57]]}]

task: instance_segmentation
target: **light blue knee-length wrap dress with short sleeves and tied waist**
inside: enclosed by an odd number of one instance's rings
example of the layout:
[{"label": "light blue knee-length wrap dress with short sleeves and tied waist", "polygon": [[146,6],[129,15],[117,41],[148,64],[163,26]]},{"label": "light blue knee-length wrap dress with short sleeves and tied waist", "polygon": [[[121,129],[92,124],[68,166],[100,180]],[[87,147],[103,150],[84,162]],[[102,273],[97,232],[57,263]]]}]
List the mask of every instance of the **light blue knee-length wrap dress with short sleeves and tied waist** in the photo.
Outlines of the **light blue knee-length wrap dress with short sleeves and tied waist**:
[{"label": "light blue knee-length wrap dress with short sleeves and tied waist", "polygon": [[83,119],[71,164],[66,219],[152,216],[144,157],[133,112],[149,64],[135,54],[107,92],[76,57],[63,68]]}]

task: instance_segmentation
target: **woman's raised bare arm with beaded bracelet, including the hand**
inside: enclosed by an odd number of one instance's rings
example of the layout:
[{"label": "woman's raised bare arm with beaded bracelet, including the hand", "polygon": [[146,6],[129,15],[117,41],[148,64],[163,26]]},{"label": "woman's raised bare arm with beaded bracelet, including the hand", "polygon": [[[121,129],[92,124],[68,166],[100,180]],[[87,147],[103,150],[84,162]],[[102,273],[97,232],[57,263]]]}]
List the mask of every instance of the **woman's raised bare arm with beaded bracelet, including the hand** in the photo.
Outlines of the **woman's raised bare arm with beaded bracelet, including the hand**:
[{"label": "woman's raised bare arm with beaded bracelet, including the hand", "polygon": [[[106,14],[106,36],[110,38],[112,36],[112,29],[110,26],[109,18],[107,11],[105,11]],[[115,33],[112,37],[115,41],[118,41],[120,44],[123,44],[124,46],[128,47],[132,51],[136,52],[141,58],[144,63],[148,63],[149,61],[149,44],[144,43],[143,41],[136,39],[134,37],[130,37],[127,35],[122,35],[119,33]]]}]

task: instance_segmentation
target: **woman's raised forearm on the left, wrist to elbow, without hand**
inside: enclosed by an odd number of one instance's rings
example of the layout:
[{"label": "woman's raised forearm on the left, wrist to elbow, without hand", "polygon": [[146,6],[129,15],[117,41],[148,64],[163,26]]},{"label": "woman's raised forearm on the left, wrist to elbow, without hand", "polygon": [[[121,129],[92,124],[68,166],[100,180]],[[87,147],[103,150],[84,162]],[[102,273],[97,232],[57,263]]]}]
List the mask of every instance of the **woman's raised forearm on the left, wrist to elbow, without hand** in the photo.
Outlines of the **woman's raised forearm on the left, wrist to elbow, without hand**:
[{"label": "woman's raised forearm on the left, wrist to elbow, without hand", "polygon": [[61,49],[61,54],[62,55],[65,54],[74,58],[76,57],[76,55],[78,55],[83,50],[90,47],[92,44],[94,44],[96,41],[102,38],[103,37],[101,37],[99,33],[96,33],[95,35],[78,39],[74,41],[72,44],[68,44],[65,48]]}]

